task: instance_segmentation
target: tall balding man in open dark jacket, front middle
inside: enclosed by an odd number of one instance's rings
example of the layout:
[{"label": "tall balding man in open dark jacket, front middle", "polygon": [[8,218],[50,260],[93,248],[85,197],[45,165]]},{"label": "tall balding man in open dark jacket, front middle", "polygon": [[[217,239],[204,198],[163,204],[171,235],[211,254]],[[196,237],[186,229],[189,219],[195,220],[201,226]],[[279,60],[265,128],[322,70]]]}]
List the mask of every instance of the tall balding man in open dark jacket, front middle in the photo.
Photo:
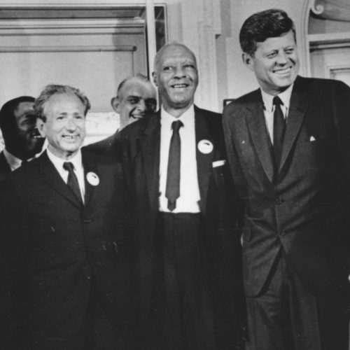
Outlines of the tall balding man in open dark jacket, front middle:
[{"label": "tall balding man in open dark jacket, front middle", "polygon": [[158,51],[153,78],[160,111],[120,133],[139,218],[139,349],[234,349],[240,254],[221,115],[194,106],[185,45]]}]

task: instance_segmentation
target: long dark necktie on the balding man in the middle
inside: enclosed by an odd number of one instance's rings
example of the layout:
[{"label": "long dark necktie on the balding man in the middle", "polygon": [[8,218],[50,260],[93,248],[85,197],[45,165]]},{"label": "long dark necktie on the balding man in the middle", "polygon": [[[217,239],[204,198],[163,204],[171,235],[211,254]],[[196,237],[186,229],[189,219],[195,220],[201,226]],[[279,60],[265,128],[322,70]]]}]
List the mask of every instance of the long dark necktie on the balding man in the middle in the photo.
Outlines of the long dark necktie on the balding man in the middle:
[{"label": "long dark necktie on the balding man in the middle", "polygon": [[167,187],[165,197],[168,199],[168,209],[173,211],[176,208],[176,200],[180,197],[180,165],[181,165],[181,120],[172,123],[172,139],[169,147],[169,160],[167,169]]}]

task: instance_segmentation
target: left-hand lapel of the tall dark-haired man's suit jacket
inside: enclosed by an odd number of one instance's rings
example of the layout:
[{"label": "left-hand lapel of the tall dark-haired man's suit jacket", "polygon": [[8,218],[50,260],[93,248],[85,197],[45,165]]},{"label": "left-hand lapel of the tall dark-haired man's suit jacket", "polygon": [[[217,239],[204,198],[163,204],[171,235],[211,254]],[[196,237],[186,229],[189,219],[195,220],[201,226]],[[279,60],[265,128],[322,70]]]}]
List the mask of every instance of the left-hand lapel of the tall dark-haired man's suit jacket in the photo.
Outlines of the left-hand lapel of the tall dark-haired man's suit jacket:
[{"label": "left-hand lapel of the tall dark-haired man's suit jacket", "polygon": [[260,90],[255,91],[253,102],[247,104],[246,123],[262,168],[264,169],[269,181],[272,182],[274,176],[274,164],[272,160],[271,141],[266,130]]}]

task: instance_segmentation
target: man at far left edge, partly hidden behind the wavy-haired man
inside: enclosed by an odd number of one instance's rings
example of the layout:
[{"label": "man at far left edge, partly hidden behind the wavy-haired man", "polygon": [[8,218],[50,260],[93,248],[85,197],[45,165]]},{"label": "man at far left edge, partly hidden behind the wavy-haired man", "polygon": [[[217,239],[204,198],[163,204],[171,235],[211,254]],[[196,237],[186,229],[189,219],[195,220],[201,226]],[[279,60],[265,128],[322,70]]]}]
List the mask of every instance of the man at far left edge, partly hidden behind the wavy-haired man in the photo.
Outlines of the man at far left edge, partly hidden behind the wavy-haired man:
[{"label": "man at far left edge, partly hidden behind the wavy-haired man", "polygon": [[17,169],[22,161],[41,152],[44,139],[36,130],[34,97],[11,99],[1,107],[0,129],[5,149],[0,153],[0,181]]}]

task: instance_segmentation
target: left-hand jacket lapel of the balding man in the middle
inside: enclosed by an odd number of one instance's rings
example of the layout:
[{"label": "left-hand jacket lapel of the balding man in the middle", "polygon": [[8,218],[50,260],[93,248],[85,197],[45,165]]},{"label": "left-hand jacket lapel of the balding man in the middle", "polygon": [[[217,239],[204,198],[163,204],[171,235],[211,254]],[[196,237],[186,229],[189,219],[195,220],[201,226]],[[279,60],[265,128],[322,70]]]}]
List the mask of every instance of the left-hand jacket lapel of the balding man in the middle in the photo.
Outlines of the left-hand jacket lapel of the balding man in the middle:
[{"label": "left-hand jacket lapel of the balding man in the middle", "polygon": [[141,135],[141,153],[144,160],[148,195],[153,212],[158,211],[160,163],[160,111],[149,118]]}]

